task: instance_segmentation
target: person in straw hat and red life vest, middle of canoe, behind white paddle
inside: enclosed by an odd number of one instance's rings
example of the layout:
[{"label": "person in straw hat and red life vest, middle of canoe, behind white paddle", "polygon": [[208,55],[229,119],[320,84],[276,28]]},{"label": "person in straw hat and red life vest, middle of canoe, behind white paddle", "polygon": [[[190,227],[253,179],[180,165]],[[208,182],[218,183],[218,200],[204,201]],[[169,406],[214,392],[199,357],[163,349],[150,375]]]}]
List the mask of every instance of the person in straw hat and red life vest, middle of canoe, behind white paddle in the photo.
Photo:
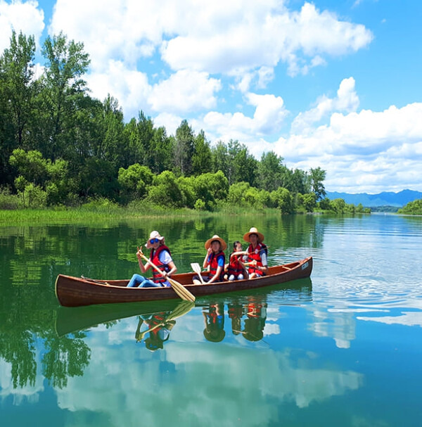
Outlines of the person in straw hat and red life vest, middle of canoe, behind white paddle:
[{"label": "person in straw hat and red life vest, middle of canoe, behind white paddle", "polygon": [[[224,280],[224,265],[226,263],[224,250],[226,250],[226,248],[226,242],[221,237],[217,236],[217,234],[205,242],[207,254],[204,258],[203,267],[208,269],[208,272],[205,273],[207,275],[203,276],[203,279],[207,283]],[[193,283],[200,283],[200,281],[198,281],[198,276],[193,276]]]}]

